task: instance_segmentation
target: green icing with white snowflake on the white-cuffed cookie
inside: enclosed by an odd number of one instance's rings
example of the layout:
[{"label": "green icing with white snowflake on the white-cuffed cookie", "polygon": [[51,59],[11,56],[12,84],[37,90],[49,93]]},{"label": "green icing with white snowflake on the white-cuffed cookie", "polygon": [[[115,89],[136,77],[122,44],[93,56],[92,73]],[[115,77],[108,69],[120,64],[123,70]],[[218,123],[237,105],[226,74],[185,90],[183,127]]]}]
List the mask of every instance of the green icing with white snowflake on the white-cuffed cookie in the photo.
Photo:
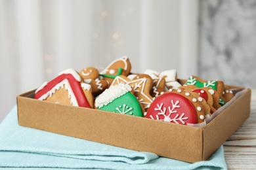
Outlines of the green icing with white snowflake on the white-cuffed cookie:
[{"label": "green icing with white snowflake on the white-cuffed cookie", "polygon": [[117,112],[121,114],[128,114],[133,116],[143,116],[140,103],[132,93],[125,93],[121,97],[115,99],[108,105],[101,107],[99,110],[109,112]]}]

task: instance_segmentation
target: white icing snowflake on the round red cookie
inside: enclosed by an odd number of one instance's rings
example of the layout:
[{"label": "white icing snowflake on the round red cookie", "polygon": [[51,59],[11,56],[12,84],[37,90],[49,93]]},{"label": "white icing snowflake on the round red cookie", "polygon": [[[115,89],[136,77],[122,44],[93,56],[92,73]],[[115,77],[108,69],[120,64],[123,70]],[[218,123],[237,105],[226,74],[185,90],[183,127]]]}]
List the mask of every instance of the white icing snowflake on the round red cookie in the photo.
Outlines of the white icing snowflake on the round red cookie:
[{"label": "white icing snowflake on the round red cookie", "polygon": [[[185,124],[185,122],[183,120],[187,120],[188,117],[184,117],[184,112],[181,114],[181,116],[179,114],[176,114],[175,118],[171,118],[171,114],[173,113],[177,113],[177,108],[180,108],[181,106],[179,105],[179,101],[176,101],[175,103],[173,102],[173,100],[171,100],[171,105],[172,107],[168,107],[168,110],[169,110],[169,114],[167,115],[167,109],[166,107],[163,107],[163,103],[161,103],[160,105],[157,104],[156,105],[156,108],[154,108],[154,110],[156,111],[160,111],[158,112],[158,114],[156,114],[156,120],[161,120],[159,118],[158,115],[163,115],[165,118],[163,118],[163,121],[164,122],[175,122],[176,124],[179,124],[179,122],[177,121],[180,121],[182,124]],[[150,118],[154,119],[154,117],[152,115],[150,115]]]}]

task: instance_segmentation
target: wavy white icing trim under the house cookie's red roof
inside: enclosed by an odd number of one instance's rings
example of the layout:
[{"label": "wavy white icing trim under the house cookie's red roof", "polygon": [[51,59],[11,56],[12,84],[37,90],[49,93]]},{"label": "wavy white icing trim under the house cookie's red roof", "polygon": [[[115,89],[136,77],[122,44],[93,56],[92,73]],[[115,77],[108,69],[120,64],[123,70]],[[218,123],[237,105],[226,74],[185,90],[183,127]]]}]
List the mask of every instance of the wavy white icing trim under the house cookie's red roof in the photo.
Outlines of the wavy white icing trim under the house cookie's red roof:
[{"label": "wavy white icing trim under the house cookie's red roof", "polygon": [[75,98],[74,92],[70,86],[70,83],[68,82],[68,79],[64,79],[62,80],[62,82],[59,82],[58,84],[56,84],[51,90],[49,90],[47,93],[45,93],[44,95],[42,95],[39,100],[45,100],[47,97],[51,97],[53,95],[53,93],[56,92],[56,90],[59,90],[60,88],[64,88],[65,85],[65,89],[68,90],[68,98],[70,98],[70,103],[74,106],[78,106],[77,104],[77,100]]}]

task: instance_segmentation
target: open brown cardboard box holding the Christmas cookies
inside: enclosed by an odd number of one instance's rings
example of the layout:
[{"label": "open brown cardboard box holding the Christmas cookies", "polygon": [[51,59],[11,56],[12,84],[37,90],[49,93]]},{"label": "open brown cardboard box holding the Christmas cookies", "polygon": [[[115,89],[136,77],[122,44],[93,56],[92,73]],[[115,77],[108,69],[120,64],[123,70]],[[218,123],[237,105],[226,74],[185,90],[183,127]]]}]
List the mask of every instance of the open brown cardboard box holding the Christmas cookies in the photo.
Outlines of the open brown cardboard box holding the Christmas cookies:
[{"label": "open brown cardboard box holding the Christmas cookies", "polygon": [[[232,88],[239,88],[232,86]],[[18,95],[18,124],[176,160],[207,160],[250,114],[251,90],[203,127],[33,99],[35,90]]]}]

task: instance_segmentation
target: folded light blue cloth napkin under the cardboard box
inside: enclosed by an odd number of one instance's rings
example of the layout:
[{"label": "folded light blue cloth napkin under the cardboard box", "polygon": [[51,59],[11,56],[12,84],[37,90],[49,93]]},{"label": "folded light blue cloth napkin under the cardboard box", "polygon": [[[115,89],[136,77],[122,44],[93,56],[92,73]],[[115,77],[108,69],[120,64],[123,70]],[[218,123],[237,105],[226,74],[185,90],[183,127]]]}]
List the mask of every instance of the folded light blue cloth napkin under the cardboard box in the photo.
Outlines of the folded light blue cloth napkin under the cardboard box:
[{"label": "folded light blue cloth napkin under the cardboard box", "polygon": [[226,169],[223,146],[208,161],[187,163],[108,144],[18,126],[14,106],[0,124],[0,169]]}]

